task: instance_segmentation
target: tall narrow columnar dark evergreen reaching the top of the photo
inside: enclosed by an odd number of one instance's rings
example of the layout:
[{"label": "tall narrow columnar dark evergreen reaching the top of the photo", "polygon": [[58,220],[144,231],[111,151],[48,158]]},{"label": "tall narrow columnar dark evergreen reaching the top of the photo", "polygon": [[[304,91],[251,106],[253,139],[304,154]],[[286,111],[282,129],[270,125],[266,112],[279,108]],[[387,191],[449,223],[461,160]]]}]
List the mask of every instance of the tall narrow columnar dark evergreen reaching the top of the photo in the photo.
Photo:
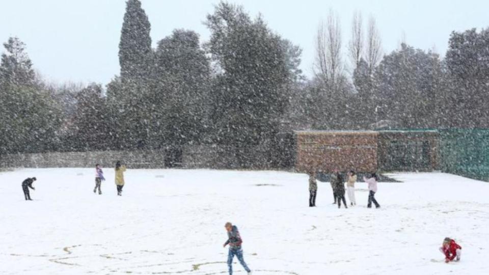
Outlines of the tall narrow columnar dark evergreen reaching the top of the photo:
[{"label": "tall narrow columnar dark evergreen reaching the top of the photo", "polygon": [[107,86],[111,127],[119,148],[147,147],[153,102],[151,25],[139,0],[126,2],[119,43],[121,74]]}]

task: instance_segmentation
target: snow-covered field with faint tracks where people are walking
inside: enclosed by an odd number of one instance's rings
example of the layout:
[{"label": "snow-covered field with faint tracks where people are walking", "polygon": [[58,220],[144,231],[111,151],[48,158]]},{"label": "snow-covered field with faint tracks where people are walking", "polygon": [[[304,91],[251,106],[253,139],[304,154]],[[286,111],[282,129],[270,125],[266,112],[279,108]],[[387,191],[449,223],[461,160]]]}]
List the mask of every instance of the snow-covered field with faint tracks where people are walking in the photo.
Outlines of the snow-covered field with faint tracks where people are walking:
[{"label": "snow-covered field with faint tracks where people are walking", "polygon": [[[489,273],[489,183],[393,174],[403,182],[379,183],[381,209],[365,207],[364,183],[359,205],[338,209],[321,182],[309,208],[302,174],[128,170],[118,197],[104,172],[101,196],[93,169],[0,173],[0,274],[225,274],[228,221],[255,275]],[[447,236],[463,247],[458,263],[442,262]]]}]

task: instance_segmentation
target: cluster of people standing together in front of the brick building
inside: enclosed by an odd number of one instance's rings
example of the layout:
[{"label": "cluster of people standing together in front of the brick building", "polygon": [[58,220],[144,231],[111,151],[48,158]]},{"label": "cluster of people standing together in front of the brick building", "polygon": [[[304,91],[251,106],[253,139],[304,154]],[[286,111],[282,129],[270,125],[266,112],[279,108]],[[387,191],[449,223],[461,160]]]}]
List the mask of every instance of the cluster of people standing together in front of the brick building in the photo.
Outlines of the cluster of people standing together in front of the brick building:
[{"label": "cluster of people standing together in front of the brick building", "polygon": [[[315,171],[311,171],[309,174],[309,207],[316,206],[316,196],[317,196],[317,175]],[[378,176],[376,173],[370,174],[370,177],[364,177],[363,180],[368,183],[368,203],[367,207],[371,208],[372,203],[375,208],[381,207],[375,199],[375,193],[377,193],[377,181]],[[350,201],[350,206],[357,205],[357,200],[355,199],[355,183],[357,182],[357,173],[355,171],[349,171],[346,173],[346,193],[348,194],[348,200]],[[345,208],[345,178],[343,175],[335,169],[333,174],[330,176],[331,188],[333,189],[333,204],[338,204],[338,208],[341,208],[341,203]]]}]

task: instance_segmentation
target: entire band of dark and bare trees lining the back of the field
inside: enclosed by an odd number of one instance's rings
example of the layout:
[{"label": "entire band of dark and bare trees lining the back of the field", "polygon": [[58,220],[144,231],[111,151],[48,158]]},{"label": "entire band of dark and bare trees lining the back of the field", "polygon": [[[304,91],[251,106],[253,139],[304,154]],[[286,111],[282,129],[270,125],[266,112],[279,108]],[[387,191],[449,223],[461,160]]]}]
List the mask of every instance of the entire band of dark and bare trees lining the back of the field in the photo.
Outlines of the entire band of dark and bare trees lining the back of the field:
[{"label": "entire band of dark and bare trees lining the back of the field", "polygon": [[408,43],[382,55],[375,18],[365,24],[356,13],[342,42],[344,24],[331,11],[317,29],[316,73],[307,79],[301,48],[242,6],[221,2],[202,16],[209,41],[177,29],[156,38],[156,48],[141,1],[128,0],[123,18],[120,74],[106,85],[47,84],[26,45],[5,42],[0,154],[158,149],[178,163],[184,150],[208,146],[234,156],[235,166],[274,167],[293,163],[293,130],[489,121],[487,30],[453,32],[446,57]]}]

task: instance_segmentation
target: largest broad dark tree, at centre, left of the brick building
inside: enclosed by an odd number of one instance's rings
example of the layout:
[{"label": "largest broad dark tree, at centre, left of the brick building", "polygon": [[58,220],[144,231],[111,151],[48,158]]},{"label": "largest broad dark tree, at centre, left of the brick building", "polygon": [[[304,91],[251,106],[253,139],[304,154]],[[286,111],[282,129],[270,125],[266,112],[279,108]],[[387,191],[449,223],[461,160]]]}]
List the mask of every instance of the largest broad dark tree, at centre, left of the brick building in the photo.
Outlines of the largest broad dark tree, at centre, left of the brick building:
[{"label": "largest broad dark tree, at centre, left of the brick building", "polygon": [[[238,165],[253,164],[253,146],[269,146],[279,131],[292,85],[294,62],[284,40],[263,19],[250,19],[241,7],[220,3],[206,22],[208,49],[220,71],[213,87],[216,142],[229,146]],[[234,148],[234,149],[231,149]],[[261,157],[263,160],[263,156]],[[265,155],[265,160],[270,161]]]}]

